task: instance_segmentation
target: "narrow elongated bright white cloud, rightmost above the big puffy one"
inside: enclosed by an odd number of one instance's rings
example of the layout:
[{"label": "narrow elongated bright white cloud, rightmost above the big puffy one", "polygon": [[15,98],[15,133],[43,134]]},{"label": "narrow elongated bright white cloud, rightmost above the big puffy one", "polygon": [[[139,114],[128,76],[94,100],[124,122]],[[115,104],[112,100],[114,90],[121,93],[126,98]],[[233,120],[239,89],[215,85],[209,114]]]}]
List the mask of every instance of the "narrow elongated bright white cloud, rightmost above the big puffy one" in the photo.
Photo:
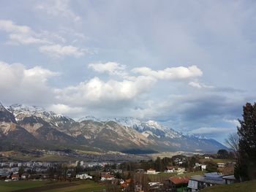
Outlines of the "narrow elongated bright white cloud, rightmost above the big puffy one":
[{"label": "narrow elongated bright white cloud, rightmost above the big puffy one", "polygon": [[148,67],[138,67],[132,69],[132,72],[154,77],[160,80],[184,80],[193,77],[200,77],[203,74],[203,72],[197,68],[197,66],[170,67],[159,71],[154,71]]}]

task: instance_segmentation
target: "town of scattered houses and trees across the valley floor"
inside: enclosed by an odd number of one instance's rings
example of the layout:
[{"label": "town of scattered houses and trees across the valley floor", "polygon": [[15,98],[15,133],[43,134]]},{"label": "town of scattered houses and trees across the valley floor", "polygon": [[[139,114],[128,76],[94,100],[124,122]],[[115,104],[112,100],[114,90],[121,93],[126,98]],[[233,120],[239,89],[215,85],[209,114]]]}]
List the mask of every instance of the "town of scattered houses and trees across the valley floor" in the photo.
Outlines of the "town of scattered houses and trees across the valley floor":
[{"label": "town of scattered houses and trees across the valley floor", "polygon": [[4,155],[0,162],[0,179],[4,183],[84,182],[99,185],[101,189],[97,191],[136,192],[200,191],[212,185],[236,183],[236,162],[227,150],[135,161],[11,161]]}]

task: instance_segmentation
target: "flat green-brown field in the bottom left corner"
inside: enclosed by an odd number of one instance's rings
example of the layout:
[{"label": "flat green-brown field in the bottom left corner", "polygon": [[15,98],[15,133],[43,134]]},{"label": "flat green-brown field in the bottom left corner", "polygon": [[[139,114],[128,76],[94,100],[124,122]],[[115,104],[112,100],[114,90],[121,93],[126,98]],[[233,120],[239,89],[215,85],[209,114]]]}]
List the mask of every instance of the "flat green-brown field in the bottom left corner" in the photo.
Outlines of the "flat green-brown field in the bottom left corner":
[{"label": "flat green-brown field in the bottom left corner", "polygon": [[77,182],[50,182],[50,181],[16,181],[4,182],[0,181],[0,191],[45,191],[45,192],[91,192],[104,189],[104,185],[99,185],[93,181],[77,181]]}]

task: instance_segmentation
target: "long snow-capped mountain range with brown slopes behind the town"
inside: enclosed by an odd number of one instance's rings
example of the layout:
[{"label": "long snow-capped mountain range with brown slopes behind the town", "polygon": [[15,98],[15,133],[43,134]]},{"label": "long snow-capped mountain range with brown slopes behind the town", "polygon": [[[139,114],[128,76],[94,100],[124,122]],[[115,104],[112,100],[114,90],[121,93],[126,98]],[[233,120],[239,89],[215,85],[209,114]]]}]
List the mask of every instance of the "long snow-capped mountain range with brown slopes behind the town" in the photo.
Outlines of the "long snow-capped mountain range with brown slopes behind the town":
[{"label": "long snow-capped mountain range with brown slopes behind the town", "polygon": [[0,150],[80,149],[162,152],[216,152],[214,139],[184,135],[154,120],[91,116],[73,120],[42,107],[0,104]]}]

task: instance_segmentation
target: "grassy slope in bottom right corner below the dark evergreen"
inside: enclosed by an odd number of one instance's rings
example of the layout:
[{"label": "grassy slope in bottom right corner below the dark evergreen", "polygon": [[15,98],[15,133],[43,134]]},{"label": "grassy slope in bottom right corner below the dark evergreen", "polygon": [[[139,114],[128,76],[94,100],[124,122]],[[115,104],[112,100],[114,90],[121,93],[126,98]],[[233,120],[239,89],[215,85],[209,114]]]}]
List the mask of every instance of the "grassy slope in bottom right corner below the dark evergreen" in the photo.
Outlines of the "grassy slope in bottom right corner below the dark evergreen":
[{"label": "grassy slope in bottom right corner below the dark evergreen", "polygon": [[201,192],[256,192],[256,180],[235,183],[233,185],[216,185],[204,188]]}]

